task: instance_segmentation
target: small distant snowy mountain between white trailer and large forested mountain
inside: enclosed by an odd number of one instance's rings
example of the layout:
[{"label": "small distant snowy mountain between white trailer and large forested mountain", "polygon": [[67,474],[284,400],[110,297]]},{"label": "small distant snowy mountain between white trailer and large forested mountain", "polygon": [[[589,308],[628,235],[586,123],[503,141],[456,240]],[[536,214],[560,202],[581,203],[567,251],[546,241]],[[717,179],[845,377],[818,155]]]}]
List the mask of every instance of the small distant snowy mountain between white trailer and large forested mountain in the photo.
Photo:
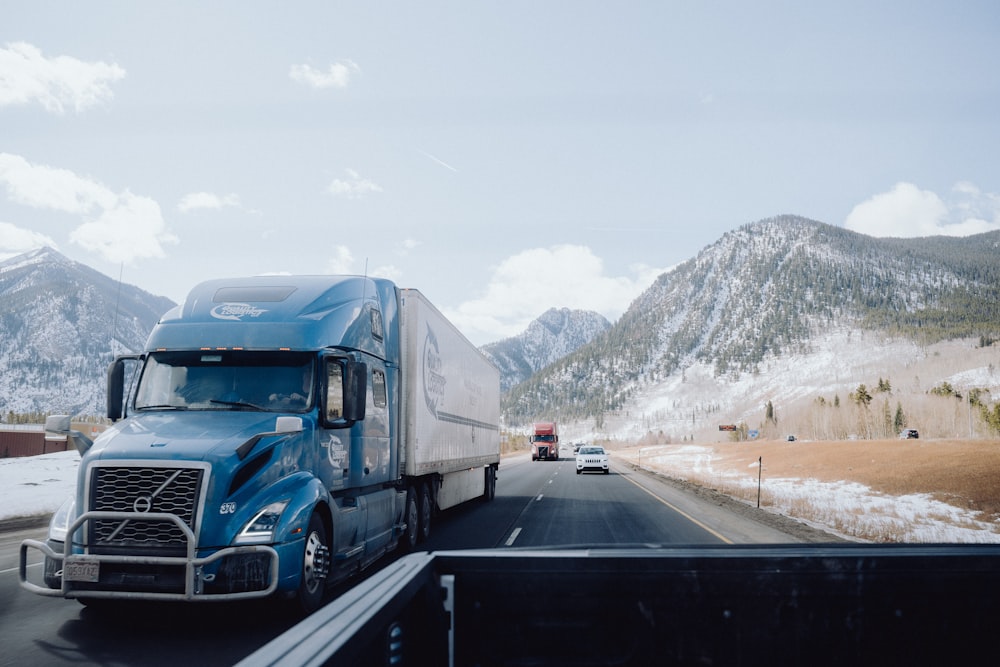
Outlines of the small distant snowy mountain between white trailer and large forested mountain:
[{"label": "small distant snowy mountain between white trailer and large forested mountain", "polygon": [[550,308],[523,333],[480,349],[500,369],[500,389],[507,391],[610,328],[600,313]]}]

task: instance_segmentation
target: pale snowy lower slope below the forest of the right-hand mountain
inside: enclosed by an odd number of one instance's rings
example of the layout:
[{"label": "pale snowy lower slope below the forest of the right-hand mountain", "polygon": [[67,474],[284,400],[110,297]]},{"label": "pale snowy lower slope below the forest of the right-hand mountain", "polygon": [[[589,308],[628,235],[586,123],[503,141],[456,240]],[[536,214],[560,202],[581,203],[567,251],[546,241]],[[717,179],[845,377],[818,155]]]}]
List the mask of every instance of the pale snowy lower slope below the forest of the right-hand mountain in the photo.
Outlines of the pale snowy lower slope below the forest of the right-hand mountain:
[{"label": "pale snowy lower slope below the forest of the right-hand mountain", "polygon": [[636,441],[662,432],[673,442],[719,439],[719,424],[756,428],[771,401],[779,417],[822,398],[849,400],[860,384],[873,391],[891,383],[893,405],[900,396],[925,395],[943,381],[957,390],[988,389],[1000,396],[1000,349],[971,339],[922,346],[872,332],[831,330],[815,336],[805,352],[770,356],[756,373],[716,376],[711,365],[694,363],[657,383],[637,389],[628,405],[607,414],[602,428],[592,421],[563,424],[573,440]]}]

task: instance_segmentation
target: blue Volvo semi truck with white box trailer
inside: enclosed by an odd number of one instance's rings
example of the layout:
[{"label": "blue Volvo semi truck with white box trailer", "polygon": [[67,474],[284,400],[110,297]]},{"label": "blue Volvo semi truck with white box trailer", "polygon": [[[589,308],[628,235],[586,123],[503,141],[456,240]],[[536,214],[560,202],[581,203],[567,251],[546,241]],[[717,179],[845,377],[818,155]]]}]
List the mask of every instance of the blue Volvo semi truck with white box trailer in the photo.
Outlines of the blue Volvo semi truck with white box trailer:
[{"label": "blue Volvo semi truck with white box trailer", "polygon": [[426,539],[436,511],[493,498],[499,413],[499,371],[416,290],[202,283],[111,364],[110,428],[91,442],[47,421],[82,459],[48,538],[21,546],[21,585],[313,611],[328,584]]}]

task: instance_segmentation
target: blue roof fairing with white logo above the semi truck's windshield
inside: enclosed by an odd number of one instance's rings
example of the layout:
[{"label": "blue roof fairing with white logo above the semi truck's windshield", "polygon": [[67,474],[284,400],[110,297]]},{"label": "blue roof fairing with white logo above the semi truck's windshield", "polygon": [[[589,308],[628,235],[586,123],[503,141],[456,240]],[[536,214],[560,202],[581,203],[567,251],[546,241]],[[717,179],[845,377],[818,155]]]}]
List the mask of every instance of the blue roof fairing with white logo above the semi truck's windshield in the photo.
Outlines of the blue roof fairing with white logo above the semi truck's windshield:
[{"label": "blue roof fairing with white logo above the semi truck's windshield", "polygon": [[318,350],[337,340],[385,358],[386,346],[395,342],[372,336],[371,315],[372,309],[390,310],[382,312],[387,322],[396,316],[395,298],[385,303],[392,293],[385,282],[360,276],[209,280],[160,318],[146,349],[188,349],[197,340],[202,348],[274,350],[295,341],[295,349]]}]

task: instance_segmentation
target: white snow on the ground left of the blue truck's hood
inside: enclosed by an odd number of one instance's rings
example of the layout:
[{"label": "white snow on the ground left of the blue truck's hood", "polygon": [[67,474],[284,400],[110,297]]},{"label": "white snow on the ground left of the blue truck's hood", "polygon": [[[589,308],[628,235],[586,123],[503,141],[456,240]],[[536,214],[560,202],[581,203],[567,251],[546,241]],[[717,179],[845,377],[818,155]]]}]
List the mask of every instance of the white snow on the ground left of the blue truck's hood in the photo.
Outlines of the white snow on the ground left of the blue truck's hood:
[{"label": "white snow on the ground left of the blue truck's hood", "polygon": [[79,465],[75,449],[0,459],[0,521],[55,512],[73,495]]}]

